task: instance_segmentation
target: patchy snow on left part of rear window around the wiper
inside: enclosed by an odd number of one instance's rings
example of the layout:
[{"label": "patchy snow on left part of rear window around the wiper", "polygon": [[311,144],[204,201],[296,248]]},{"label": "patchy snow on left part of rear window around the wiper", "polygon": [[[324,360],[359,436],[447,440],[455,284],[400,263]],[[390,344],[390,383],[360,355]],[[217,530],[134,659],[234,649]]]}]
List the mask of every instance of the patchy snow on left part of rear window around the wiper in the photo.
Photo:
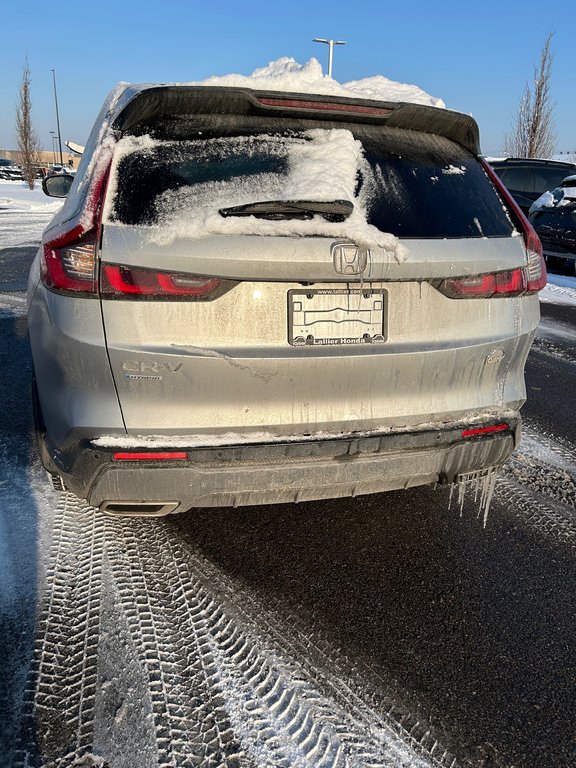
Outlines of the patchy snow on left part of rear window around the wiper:
[{"label": "patchy snow on left part of rear window around the wiper", "polygon": [[[358,184],[366,166],[362,144],[343,129],[170,142],[125,137],[117,146],[106,216],[150,226],[152,239],[211,235],[345,237],[403,260],[396,237],[368,224],[371,185]],[[343,222],[224,217],[223,208],[262,201],[334,201],[354,205]]]}]

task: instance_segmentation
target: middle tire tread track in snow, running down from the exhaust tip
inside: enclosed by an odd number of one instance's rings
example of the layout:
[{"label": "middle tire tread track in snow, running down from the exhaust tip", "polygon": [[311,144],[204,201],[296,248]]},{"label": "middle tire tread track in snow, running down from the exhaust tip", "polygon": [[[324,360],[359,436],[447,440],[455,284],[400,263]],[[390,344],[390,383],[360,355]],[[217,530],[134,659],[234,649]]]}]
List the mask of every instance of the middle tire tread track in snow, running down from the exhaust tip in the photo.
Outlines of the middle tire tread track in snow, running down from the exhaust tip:
[{"label": "middle tire tread track in snow, running down from the exhaust tip", "polygon": [[230,724],[214,702],[217,692],[206,674],[214,661],[202,656],[195,627],[191,634],[183,632],[185,619],[174,602],[173,575],[159,568],[159,521],[137,521],[138,534],[135,522],[107,520],[106,550],[149,680],[158,765],[233,768],[237,750]]}]

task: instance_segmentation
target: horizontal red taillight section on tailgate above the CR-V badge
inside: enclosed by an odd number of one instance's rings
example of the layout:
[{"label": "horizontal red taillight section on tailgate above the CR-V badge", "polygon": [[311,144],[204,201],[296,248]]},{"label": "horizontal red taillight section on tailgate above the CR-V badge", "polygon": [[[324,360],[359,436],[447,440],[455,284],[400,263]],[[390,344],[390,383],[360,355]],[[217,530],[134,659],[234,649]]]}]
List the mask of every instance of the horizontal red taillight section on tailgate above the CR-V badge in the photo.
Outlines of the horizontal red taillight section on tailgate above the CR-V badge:
[{"label": "horizontal red taillight section on tailgate above the CR-V badge", "polygon": [[107,298],[207,299],[222,282],[216,277],[103,264],[101,295]]}]

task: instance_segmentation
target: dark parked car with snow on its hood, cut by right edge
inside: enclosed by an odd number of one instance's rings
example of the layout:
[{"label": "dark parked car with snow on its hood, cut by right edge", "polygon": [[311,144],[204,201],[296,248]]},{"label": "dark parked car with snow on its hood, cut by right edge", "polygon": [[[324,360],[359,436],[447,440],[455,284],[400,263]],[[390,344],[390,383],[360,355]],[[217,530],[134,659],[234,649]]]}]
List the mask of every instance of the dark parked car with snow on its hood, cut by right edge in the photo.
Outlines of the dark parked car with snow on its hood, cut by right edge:
[{"label": "dark parked car with snow on its hood, cut by right edge", "polygon": [[576,274],[576,175],[532,204],[530,221],[542,242],[544,257]]}]

